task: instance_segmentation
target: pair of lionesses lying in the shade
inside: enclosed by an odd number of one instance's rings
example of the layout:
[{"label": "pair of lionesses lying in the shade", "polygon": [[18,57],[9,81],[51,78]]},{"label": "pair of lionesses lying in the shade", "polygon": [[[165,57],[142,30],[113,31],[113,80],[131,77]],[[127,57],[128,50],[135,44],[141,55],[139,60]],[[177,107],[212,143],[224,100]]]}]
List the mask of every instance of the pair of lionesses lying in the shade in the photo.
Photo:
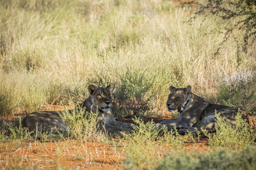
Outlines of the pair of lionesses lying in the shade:
[{"label": "pair of lionesses lying in the shade", "polygon": [[[89,85],[90,96],[81,104],[86,111],[98,112],[99,117],[104,123],[105,129],[110,133],[119,133],[122,131],[131,131],[131,124],[116,121],[111,113],[111,87],[95,87]],[[238,108],[230,108],[219,104],[209,103],[206,99],[196,96],[191,92],[191,86],[186,88],[170,87],[170,94],[166,102],[168,111],[178,110],[180,116],[177,120],[164,120],[157,127],[166,125],[169,130],[173,127],[179,129],[179,133],[196,131],[202,127],[204,131],[214,131],[215,113],[221,113],[230,120],[232,124],[236,123],[235,116]],[[33,131],[36,127],[41,127],[43,131],[67,131],[67,125],[56,111],[34,112],[22,120],[22,125]]]}]

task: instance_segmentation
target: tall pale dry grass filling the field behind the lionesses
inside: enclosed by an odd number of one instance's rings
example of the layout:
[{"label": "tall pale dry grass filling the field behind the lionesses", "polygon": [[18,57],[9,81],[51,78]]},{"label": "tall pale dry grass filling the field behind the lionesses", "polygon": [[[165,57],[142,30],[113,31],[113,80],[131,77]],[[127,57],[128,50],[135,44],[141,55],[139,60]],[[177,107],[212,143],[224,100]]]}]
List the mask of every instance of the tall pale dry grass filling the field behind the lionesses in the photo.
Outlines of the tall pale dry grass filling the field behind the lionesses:
[{"label": "tall pale dry grass filling the field behind the lionesses", "polygon": [[22,106],[34,111],[46,103],[77,103],[92,81],[128,87],[127,71],[145,78],[140,111],[159,111],[171,84],[208,91],[237,69],[255,69],[255,48],[237,61],[232,40],[214,56],[225,25],[209,34],[218,18],[189,25],[193,11],[160,0],[1,0],[1,115]]}]

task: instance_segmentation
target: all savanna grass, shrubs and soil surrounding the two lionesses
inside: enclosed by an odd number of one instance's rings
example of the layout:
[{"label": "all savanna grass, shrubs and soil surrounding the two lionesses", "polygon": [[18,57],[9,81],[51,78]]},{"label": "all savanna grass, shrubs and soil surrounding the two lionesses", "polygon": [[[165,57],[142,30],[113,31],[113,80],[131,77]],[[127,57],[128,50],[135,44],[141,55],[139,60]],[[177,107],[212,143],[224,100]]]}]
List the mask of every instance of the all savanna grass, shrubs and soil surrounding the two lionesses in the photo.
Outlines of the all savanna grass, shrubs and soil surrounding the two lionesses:
[{"label": "all savanna grass, shrubs and soil surrounding the two lionesses", "polygon": [[[241,115],[236,126],[218,118],[215,134],[184,136],[141,120],[163,117],[170,85],[191,85],[212,103],[256,114],[254,1],[198,2],[0,0],[1,169],[254,169],[256,131]],[[246,19],[250,27],[230,32]],[[22,117],[5,120],[74,107],[90,84],[112,85],[115,117],[135,117],[131,134],[112,138],[99,130],[97,113],[83,110],[65,111],[68,134],[28,132]]]}]

